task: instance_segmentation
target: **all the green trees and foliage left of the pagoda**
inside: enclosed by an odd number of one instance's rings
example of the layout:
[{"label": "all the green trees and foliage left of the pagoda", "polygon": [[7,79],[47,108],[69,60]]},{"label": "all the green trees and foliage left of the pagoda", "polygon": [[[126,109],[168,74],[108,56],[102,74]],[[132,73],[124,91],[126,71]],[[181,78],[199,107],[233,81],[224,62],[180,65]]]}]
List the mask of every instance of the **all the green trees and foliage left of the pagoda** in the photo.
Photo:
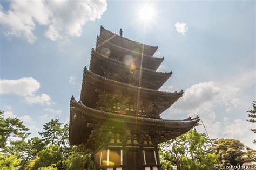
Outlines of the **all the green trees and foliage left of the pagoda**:
[{"label": "all the green trees and foliage left of the pagoda", "polygon": [[[91,154],[73,150],[69,145],[69,126],[52,119],[43,125],[38,137],[30,133],[18,118],[3,118],[0,110],[0,169],[70,169],[92,167]],[[17,140],[14,140],[17,139]]]}]

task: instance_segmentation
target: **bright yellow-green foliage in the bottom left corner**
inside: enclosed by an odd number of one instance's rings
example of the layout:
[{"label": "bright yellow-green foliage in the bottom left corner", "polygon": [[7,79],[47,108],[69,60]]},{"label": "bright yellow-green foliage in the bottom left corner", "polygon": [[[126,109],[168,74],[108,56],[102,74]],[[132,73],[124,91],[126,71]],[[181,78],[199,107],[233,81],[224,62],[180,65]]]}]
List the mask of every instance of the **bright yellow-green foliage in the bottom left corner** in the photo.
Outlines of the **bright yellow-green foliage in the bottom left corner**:
[{"label": "bright yellow-green foliage in the bottom left corner", "polygon": [[18,169],[21,159],[17,158],[16,155],[0,155],[0,169]]}]

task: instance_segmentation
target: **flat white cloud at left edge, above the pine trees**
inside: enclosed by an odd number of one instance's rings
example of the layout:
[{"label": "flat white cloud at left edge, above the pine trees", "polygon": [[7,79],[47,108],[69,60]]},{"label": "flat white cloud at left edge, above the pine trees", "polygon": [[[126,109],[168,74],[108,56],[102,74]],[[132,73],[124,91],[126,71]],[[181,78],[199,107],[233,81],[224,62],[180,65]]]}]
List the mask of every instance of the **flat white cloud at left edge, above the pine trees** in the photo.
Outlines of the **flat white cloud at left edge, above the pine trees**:
[{"label": "flat white cloud at left edge, above the pine trees", "polygon": [[0,79],[0,94],[15,94],[24,97],[29,104],[53,104],[47,94],[36,95],[40,83],[32,77],[24,77],[17,80]]}]

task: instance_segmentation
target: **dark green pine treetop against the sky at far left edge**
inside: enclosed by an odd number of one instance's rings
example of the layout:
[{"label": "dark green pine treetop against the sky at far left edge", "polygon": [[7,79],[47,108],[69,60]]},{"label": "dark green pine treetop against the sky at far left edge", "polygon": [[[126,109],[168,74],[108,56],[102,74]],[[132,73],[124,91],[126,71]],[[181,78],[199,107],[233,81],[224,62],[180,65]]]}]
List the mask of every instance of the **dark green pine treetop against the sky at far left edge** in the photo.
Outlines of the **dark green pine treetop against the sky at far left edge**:
[{"label": "dark green pine treetop against the sky at far left edge", "polygon": [[23,122],[16,118],[3,118],[4,112],[0,110],[0,148],[4,149],[8,141],[14,138],[24,140],[29,136],[29,130]]}]

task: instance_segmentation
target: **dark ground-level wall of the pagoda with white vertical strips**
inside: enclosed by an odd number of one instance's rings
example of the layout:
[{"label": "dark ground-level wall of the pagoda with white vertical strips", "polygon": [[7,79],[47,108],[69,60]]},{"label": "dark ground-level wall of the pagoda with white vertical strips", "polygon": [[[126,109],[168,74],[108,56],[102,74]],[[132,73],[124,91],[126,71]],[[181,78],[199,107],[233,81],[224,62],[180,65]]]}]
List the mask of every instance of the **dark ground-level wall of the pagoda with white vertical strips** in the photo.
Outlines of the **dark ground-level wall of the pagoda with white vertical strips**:
[{"label": "dark ground-level wall of the pagoda with white vertical strips", "polygon": [[94,169],[159,170],[157,146],[103,146],[95,154]]}]

